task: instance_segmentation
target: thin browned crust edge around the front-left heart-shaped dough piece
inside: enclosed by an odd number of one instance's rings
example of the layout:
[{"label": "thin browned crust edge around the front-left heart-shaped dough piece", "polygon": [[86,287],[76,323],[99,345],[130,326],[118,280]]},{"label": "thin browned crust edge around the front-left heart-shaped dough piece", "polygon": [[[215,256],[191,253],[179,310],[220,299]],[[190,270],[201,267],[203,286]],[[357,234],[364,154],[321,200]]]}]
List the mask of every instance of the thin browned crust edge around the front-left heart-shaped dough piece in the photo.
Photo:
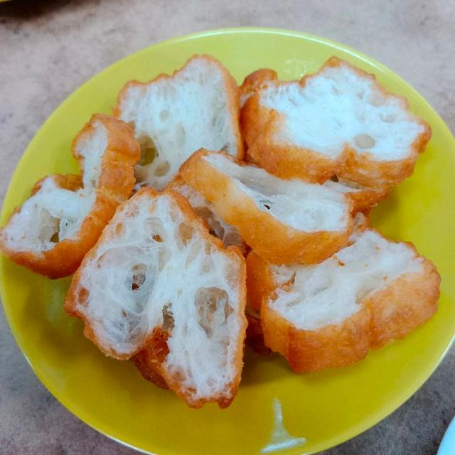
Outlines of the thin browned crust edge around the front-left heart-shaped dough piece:
[{"label": "thin browned crust edge around the front-left heart-shaped dough piece", "polygon": [[[240,277],[239,277],[239,325],[240,325],[240,336],[239,340],[237,342],[237,350],[234,355],[233,359],[233,365],[235,365],[235,368],[237,368],[237,375],[235,376],[234,380],[228,385],[227,390],[223,394],[211,396],[211,397],[203,397],[200,398],[199,400],[194,400],[193,397],[191,396],[191,392],[188,390],[183,389],[181,386],[181,378],[178,377],[172,377],[167,371],[164,365],[162,365],[164,360],[160,361],[160,356],[156,354],[157,352],[162,353],[163,352],[163,337],[161,337],[159,341],[160,346],[156,346],[156,331],[152,332],[150,336],[144,341],[142,346],[139,346],[137,350],[132,352],[130,355],[123,355],[117,353],[115,350],[112,350],[112,348],[106,349],[100,340],[97,338],[95,335],[95,332],[92,330],[92,327],[90,325],[90,320],[87,319],[85,315],[80,313],[80,311],[77,309],[77,304],[83,304],[83,299],[84,299],[84,294],[87,291],[84,288],[80,287],[80,279],[81,279],[81,274],[82,270],[86,266],[88,262],[90,262],[91,259],[93,259],[96,255],[97,248],[99,245],[104,242],[105,238],[108,238],[111,232],[109,231],[109,228],[105,229],[100,236],[100,238],[97,240],[96,245],[90,250],[87,255],[85,255],[85,258],[82,261],[82,264],[80,265],[80,268],[77,270],[75,273],[73,280],[70,285],[70,289],[68,291],[68,295],[65,299],[65,311],[70,316],[76,316],[82,319],[85,323],[85,328],[84,328],[84,335],[89,338],[95,345],[102,350],[103,353],[106,355],[109,355],[110,357],[117,358],[118,360],[127,360],[129,358],[132,358],[134,356],[134,362],[137,364],[141,374],[144,376],[144,378],[148,380],[152,380],[152,382],[155,382],[157,385],[160,385],[161,387],[164,386],[164,382],[166,382],[166,386],[176,392],[176,394],[181,397],[183,400],[187,402],[187,404],[191,407],[202,407],[205,402],[217,402],[220,407],[227,407],[230,405],[230,402],[235,397],[235,394],[237,393],[237,389],[240,383],[240,378],[242,375],[242,367],[243,367],[243,349],[244,349],[244,341],[245,341],[245,331],[247,328],[247,320],[245,318],[245,305],[246,305],[246,266],[245,266],[245,259],[240,253],[240,251],[236,247],[228,247],[225,248],[223,246],[223,242],[221,242],[220,239],[213,237],[213,235],[210,235],[208,232],[208,229],[205,227],[203,220],[201,220],[196,213],[194,213],[193,208],[191,208],[190,203],[188,203],[188,200],[181,196],[180,193],[177,193],[176,191],[172,190],[165,190],[161,193],[158,193],[157,191],[154,191],[153,188],[141,188],[134,196],[132,196],[131,199],[127,200],[124,202],[122,205],[119,206],[117,210],[123,210],[124,206],[129,203],[130,200],[134,200],[134,198],[138,198],[144,193],[147,193],[150,198],[155,198],[156,196],[162,196],[162,195],[169,195],[171,196],[177,203],[178,207],[181,209],[183,216],[186,218],[186,220],[189,223],[193,224],[193,227],[199,230],[200,234],[202,235],[203,239],[210,243],[213,247],[215,247],[217,250],[220,250],[224,252],[226,255],[230,256],[233,260],[237,261],[239,264],[239,272],[240,272]],[[108,224],[108,227],[110,226],[110,223]],[[86,299],[86,296],[85,296]],[[155,328],[154,328],[155,329]],[[161,335],[166,335],[164,331],[159,328]],[[164,340],[167,339],[167,336],[164,336]],[[166,345],[167,346],[167,345]],[[141,352],[143,350],[146,350],[146,352]],[[139,356],[138,356],[139,355]],[[161,381],[161,379],[162,381]],[[164,382],[163,382],[164,381]]]}]

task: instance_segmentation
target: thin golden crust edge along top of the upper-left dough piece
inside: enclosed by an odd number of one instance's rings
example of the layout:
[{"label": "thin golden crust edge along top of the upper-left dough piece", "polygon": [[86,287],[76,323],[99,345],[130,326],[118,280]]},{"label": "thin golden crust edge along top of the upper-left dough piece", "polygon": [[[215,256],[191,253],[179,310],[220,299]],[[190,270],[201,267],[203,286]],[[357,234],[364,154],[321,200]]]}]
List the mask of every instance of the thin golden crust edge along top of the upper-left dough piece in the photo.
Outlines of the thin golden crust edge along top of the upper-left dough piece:
[{"label": "thin golden crust edge along top of the upper-left dough piece", "polygon": [[224,82],[225,82],[225,91],[228,96],[228,104],[226,108],[229,110],[230,118],[232,121],[232,125],[235,125],[235,137],[237,141],[237,158],[243,159],[243,140],[242,134],[240,133],[240,128],[237,126],[239,124],[240,118],[240,100],[239,100],[239,87],[237,87],[237,82],[235,82],[234,77],[229,73],[228,69],[216,58],[212,57],[211,55],[193,55],[189,58],[185,65],[179,70],[174,71],[171,75],[167,74],[160,74],[154,79],[149,80],[148,82],[139,82],[138,80],[130,80],[127,82],[122,90],[120,90],[119,95],[117,97],[117,105],[112,109],[112,114],[115,117],[120,117],[122,114],[122,101],[125,97],[127,97],[128,91],[130,87],[147,87],[148,85],[154,84],[154,82],[158,82],[159,80],[167,80],[172,79],[179,73],[183,72],[186,68],[186,65],[191,62],[191,60],[195,60],[197,58],[204,58],[208,62],[216,65],[221,73],[223,73]]}]

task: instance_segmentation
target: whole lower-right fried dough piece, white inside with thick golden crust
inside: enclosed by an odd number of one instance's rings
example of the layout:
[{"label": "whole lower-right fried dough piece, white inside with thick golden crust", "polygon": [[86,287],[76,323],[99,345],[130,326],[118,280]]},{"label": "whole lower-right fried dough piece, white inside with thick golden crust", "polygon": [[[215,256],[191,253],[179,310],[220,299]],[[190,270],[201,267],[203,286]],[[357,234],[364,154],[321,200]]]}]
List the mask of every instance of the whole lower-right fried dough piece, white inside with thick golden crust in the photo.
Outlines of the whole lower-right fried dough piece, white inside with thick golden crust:
[{"label": "whole lower-right fried dough piece, white inside with thick golden crust", "polygon": [[299,373],[350,365],[368,348],[405,337],[437,310],[439,283],[413,245],[387,240],[363,220],[320,264],[247,257],[248,298],[260,311],[264,343]]}]

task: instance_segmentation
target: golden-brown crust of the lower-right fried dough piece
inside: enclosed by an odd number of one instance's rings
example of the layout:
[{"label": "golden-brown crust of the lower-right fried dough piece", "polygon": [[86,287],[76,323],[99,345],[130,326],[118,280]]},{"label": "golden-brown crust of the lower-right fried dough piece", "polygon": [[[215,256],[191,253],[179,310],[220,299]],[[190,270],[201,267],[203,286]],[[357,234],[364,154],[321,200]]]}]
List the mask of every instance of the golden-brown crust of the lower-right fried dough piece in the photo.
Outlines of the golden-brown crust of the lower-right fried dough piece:
[{"label": "golden-brown crust of the lower-right fried dough piece", "polygon": [[[368,220],[356,229],[368,229]],[[407,245],[421,257],[414,245]],[[255,311],[260,305],[265,346],[284,355],[294,371],[303,373],[351,365],[365,357],[368,348],[404,338],[437,310],[441,278],[431,261],[422,260],[422,272],[402,274],[384,289],[365,296],[360,310],[342,323],[308,331],[296,328],[274,311],[276,291],[287,284],[274,282],[271,264],[251,252],[247,257],[247,293]]]}]

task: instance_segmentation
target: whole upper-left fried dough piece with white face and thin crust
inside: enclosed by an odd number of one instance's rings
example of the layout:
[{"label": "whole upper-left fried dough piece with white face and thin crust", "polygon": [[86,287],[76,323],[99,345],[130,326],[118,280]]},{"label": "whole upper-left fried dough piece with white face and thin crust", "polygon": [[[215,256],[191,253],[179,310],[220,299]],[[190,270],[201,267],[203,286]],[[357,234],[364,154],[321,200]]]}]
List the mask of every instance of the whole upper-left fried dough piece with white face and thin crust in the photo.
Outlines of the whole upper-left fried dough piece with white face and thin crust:
[{"label": "whole upper-left fried dough piece with white face and thin crust", "polygon": [[115,114],[134,126],[141,143],[136,189],[164,188],[201,147],[243,156],[237,84],[209,55],[194,55],[171,76],[127,82]]}]

